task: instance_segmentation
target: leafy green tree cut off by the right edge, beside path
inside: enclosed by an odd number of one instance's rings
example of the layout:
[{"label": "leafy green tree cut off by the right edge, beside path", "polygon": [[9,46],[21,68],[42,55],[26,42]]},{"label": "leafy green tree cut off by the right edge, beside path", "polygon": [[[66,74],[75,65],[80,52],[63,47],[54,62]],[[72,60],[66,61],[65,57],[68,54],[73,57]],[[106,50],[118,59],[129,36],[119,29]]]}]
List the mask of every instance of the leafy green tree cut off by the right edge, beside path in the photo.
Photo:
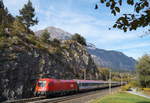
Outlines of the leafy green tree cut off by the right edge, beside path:
[{"label": "leafy green tree cut off by the right edge, beside path", "polygon": [[136,68],[139,84],[142,87],[150,87],[150,55],[142,56]]}]

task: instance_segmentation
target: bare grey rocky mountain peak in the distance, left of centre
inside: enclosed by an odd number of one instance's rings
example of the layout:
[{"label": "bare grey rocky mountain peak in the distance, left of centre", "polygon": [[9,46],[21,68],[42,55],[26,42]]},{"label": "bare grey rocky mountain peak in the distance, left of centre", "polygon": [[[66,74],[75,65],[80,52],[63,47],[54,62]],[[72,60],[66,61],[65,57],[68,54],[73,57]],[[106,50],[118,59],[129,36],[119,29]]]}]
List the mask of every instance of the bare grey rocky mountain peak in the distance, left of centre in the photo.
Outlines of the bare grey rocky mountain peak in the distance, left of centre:
[{"label": "bare grey rocky mountain peak in the distance, left of centre", "polygon": [[[53,27],[53,26],[47,27],[44,30],[47,30],[50,33],[50,37],[52,39],[56,38],[59,40],[70,40],[70,38],[72,36],[72,34],[63,31],[62,29]],[[35,34],[40,36],[44,30],[36,31]]]}]

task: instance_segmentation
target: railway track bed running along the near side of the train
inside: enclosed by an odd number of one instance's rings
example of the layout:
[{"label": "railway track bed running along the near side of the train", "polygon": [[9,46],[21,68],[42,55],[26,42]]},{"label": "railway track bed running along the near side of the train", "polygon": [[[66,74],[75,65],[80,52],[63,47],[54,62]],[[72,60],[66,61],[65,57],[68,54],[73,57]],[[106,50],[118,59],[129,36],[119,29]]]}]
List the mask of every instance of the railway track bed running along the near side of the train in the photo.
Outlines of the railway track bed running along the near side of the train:
[{"label": "railway track bed running along the near side of the train", "polygon": [[65,102],[65,101],[70,101],[70,100],[74,100],[74,99],[79,99],[84,96],[90,96],[90,95],[100,93],[100,92],[104,96],[104,95],[106,95],[105,93],[103,93],[105,91],[108,91],[108,88],[95,90],[95,91],[89,91],[89,92],[83,92],[83,93],[77,93],[77,94],[72,94],[72,95],[67,95],[67,96],[62,96],[62,97],[46,98],[45,96],[41,96],[41,97],[13,100],[13,101],[7,101],[7,102],[5,101],[3,103],[59,103],[59,102]]}]

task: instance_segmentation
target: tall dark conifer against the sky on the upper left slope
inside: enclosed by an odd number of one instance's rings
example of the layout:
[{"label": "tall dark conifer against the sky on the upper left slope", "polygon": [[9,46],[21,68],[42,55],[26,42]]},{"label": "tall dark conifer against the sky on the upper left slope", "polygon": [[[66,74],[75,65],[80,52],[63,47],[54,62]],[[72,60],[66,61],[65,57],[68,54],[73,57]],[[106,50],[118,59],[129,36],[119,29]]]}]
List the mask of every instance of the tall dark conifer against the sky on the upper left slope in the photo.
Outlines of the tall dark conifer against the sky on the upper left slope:
[{"label": "tall dark conifer against the sky on the upper left slope", "polygon": [[38,23],[37,18],[34,19],[35,9],[33,8],[32,2],[30,0],[19,12],[21,16],[18,16],[18,18],[20,18],[22,23],[25,24],[28,30],[30,26],[34,26]]}]

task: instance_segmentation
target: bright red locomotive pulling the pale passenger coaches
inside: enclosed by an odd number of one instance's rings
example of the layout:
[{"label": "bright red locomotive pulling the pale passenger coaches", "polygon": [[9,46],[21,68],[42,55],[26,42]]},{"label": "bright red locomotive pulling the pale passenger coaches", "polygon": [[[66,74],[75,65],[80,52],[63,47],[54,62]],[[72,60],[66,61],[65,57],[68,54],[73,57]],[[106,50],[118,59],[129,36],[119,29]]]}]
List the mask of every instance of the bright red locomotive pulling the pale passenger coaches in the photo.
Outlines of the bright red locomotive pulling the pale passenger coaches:
[{"label": "bright red locomotive pulling the pale passenger coaches", "polygon": [[36,95],[54,95],[77,92],[78,85],[74,80],[59,80],[51,78],[39,79],[35,92]]}]

